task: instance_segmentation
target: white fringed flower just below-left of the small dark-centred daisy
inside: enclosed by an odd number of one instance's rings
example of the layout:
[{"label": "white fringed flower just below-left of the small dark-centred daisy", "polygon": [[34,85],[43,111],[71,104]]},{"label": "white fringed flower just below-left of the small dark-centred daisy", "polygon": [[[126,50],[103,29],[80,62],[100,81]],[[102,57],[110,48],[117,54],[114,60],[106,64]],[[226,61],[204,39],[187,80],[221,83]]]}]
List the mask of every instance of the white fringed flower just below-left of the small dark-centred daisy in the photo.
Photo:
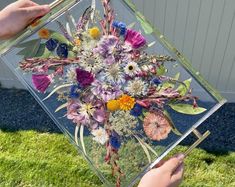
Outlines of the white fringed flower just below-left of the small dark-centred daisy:
[{"label": "white fringed flower just below-left of the small dark-centred daisy", "polygon": [[123,84],[125,82],[124,74],[121,72],[121,68],[118,63],[109,66],[105,70],[103,78],[110,83]]}]

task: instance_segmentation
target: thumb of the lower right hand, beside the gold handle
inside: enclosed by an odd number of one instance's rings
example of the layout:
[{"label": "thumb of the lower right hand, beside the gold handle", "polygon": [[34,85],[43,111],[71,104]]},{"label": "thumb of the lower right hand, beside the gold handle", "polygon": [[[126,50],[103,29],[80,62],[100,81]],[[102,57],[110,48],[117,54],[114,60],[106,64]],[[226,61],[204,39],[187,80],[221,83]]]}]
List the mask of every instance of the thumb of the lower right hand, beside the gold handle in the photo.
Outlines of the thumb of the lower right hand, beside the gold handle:
[{"label": "thumb of the lower right hand, beside the gold handle", "polygon": [[182,164],[183,160],[183,154],[176,155],[166,161],[160,168],[164,171],[170,172],[170,174],[173,174],[179,165]]}]

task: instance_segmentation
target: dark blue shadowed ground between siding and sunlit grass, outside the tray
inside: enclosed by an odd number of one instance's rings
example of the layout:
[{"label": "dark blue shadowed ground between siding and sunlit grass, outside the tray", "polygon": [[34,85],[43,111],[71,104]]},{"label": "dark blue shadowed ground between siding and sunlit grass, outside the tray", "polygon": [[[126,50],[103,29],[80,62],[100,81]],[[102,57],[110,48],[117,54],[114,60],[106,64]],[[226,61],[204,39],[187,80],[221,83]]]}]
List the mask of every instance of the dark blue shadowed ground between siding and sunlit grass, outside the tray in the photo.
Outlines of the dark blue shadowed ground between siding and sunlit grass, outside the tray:
[{"label": "dark blue shadowed ground between siding and sunlit grass, outside the tray", "polygon": [[[0,89],[0,129],[14,132],[35,130],[37,132],[61,133],[34,98],[23,90]],[[198,129],[211,131],[211,135],[199,146],[213,154],[235,151],[235,104],[225,104]],[[181,145],[191,145],[196,138],[191,134]]]}]

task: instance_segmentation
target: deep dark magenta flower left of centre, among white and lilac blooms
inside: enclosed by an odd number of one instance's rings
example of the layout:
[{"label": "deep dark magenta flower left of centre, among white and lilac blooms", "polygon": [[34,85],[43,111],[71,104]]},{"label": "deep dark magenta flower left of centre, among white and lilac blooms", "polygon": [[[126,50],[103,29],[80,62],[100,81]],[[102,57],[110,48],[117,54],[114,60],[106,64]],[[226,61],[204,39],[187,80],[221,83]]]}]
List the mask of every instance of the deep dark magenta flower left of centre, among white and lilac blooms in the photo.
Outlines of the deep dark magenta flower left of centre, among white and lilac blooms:
[{"label": "deep dark magenta flower left of centre, among white and lilac blooms", "polygon": [[77,81],[83,88],[90,86],[91,83],[94,81],[94,76],[92,75],[92,73],[88,71],[77,68],[76,74],[77,74]]}]

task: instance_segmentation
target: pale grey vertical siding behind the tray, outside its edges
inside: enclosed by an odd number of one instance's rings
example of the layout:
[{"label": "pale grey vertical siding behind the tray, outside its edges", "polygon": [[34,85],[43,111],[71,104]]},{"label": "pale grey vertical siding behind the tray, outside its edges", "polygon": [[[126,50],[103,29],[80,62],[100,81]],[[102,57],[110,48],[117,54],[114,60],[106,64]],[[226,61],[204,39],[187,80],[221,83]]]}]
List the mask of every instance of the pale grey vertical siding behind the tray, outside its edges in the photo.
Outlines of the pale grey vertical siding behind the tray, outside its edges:
[{"label": "pale grey vertical siding behind the tray, outside its edges", "polygon": [[[4,0],[0,6],[13,1]],[[235,101],[234,0],[132,1],[214,87]],[[19,85],[2,64],[0,81],[8,87]]]}]

